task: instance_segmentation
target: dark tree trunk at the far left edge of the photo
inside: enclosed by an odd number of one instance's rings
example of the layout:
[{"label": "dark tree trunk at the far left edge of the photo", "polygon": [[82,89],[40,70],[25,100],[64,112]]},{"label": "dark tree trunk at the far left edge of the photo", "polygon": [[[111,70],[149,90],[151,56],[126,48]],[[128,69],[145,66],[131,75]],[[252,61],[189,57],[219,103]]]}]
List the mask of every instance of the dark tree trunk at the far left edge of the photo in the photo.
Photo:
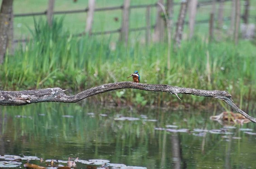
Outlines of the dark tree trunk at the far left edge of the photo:
[{"label": "dark tree trunk at the far left edge of the photo", "polygon": [[3,0],[0,10],[0,64],[3,63],[6,48],[8,46],[8,36],[10,21],[12,20],[13,0]]}]

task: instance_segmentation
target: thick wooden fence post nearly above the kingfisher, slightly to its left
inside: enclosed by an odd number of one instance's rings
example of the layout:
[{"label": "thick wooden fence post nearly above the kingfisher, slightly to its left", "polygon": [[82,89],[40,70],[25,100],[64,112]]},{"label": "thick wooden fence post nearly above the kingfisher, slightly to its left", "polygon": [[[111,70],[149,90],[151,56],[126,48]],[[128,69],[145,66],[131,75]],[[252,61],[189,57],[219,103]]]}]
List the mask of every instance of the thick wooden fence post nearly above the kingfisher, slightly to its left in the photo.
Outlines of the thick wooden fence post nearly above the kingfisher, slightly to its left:
[{"label": "thick wooden fence post nearly above the kingfisher, slightly to its left", "polygon": [[120,32],[120,40],[125,41],[125,44],[128,43],[129,36],[129,15],[130,15],[130,0],[124,0],[123,6],[123,22]]}]

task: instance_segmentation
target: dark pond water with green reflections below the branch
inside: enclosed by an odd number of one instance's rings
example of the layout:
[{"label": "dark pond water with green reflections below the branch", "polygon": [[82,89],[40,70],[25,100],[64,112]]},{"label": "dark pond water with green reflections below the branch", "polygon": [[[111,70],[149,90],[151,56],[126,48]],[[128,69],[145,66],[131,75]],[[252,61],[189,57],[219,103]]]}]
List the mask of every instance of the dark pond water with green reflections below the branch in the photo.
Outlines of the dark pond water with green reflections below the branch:
[{"label": "dark pond water with green reflections below the branch", "polygon": [[1,106],[0,155],[106,159],[148,169],[256,168],[256,126],[224,127],[209,120],[212,115],[59,103]]}]

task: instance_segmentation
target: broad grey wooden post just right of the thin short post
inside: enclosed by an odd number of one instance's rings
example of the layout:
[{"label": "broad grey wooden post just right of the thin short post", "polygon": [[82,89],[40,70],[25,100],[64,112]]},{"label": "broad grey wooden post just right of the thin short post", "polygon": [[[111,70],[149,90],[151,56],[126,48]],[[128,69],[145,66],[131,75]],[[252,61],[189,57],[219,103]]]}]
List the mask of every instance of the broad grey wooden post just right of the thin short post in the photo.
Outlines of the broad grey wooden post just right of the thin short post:
[{"label": "broad grey wooden post just right of the thin short post", "polygon": [[[163,4],[163,0],[158,0],[159,3]],[[157,17],[156,17],[156,27],[154,30],[153,41],[159,42],[164,39],[164,20],[162,18],[162,8],[160,5],[157,6]]]}]

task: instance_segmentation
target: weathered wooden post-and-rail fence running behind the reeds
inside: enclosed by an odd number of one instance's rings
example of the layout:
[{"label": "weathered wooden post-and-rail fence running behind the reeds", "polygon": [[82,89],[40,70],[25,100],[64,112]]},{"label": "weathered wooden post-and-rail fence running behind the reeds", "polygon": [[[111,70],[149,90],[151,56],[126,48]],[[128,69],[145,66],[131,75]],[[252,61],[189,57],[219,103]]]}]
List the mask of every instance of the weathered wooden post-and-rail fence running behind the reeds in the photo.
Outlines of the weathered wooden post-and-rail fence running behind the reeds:
[{"label": "weathered wooden post-and-rail fence running behind the reeds", "polygon": [[[145,39],[146,39],[146,43],[148,43],[151,40],[151,38],[150,38],[151,37],[150,30],[152,28],[154,29],[154,35],[153,35],[153,39],[152,39],[153,41],[163,41],[163,39],[164,39],[165,20],[161,16],[163,9],[160,7],[159,3],[165,4],[165,6],[167,6],[166,11],[168,13],[169,21],[172,20],[173,6],[174,5],[181,5],[181,10],[180,10],[178,22],[176,24],[172,24],[172,25],[177,25],[176,26],[175,41],[177,43],[179,43],[179,41],[181,40],[182,30],[183,30],[183,25],[184,24],[189,24],[189,30],[190,30],[189,37],[191,38],[193,36],[193,32],[194,32],[194,24],[197,24],[197,23],[209,23],[209,37],[210,37],[210,39],[212,39],[212,37],[213,37],[213,30],[214,30],[213,29],[214,28],[214,24],[213,24],[214,23],[214,13],[212,12],[210,14],[210,16],[209,16],[209,19],[207,19],[207,20],[195,21],[196,10],[200,6],[211,5],[211,4],[215,5],[214,3],[223,3],[224,1],[231,1],[231,0],[204,0],[204,1],[200,1],[200,2],[198,2],[197,0],[190,0],[189,1],[190,4],[187,1],[184,1],[182,3],[173,3],[173,0],[166,0],[166,3],[165,3],[165,2],[163,2],[163,0],[158,0],[158,3],[145,4],[145,5],[130,5],[130,0],[124,0],[123,5],[121,5],[121,6],[96,8],[95,7],[95,0],[88,0],[88,7],[84,8],[84,9],[81,9],[81,10],[53,11],[53,9],[54,9],[54,0],[49,0],[48,9],[45,10],[44,12],[15,14],[14,17],[47,15],[49,26],[51,26],[52,18],[53,18],[54,15],[58,15],[58,14],[74,14],[74,13],[87,13],[85,31],[81,32],[79,34],[75,34],[74,36],[83,36],[85,34],[89,34],[89,35],[102,35],[102,34],[120,33],[120,38],[119,39],[124,41],[125,43],[127,43],[129,32],[145,30],[146,31]],[[239,1],[240,2],[240,0],[235,0],[235,1]],[[245,0],[245,1],[248,1],[248,0]],[[156,24],[154,24],[154,25],[152,25],[151,22],[150,22],[151,8],[152,7],[157,7]],[[138,27],[138,28],[133,28],[133,29],[128,29],[129,28],[130,9],[133,9],[133,8],[146,8],[146,26]],[[189,21],[185,22],[184,19],[185,19],[187,8],[189,10]],[[248,8],[246,8],[246,9],[248,9]],[[112,11],[112,10],[122,10],[123,17],[122,17],[121,27],[119,29],[116,29],[116,30],[108,30],[108,31],[103,31],[103,32],[92,32],[92,24],[93,24],[94,12],[98,12],[98,11]],[[220,10],[219,10],[219,12],[221,12]],[[240,15],[240,14],[237,14],[237,15]],[[183,18],[181,18],[181,17],[183,17]],[[241,16],[241,17],[248,22],[248,17],[249,17],[248,10],[245,11],[245,14],[243,16]],[[218,19],[219,20],[223,20],[224,18],[223,18],[223,16],[222,16],[222,18],[220,16],[220,18],[218,17]],[[226,19],[230,19],[230,18],[226,18]],[[173,27],[172,25],[171,25],[171,27]],[[236,26],[236,29],[238,30],[237,26]],[[27,41],[27,40],[28,39],[19,39],[19,40],[15,40],[14,42]]]}]

